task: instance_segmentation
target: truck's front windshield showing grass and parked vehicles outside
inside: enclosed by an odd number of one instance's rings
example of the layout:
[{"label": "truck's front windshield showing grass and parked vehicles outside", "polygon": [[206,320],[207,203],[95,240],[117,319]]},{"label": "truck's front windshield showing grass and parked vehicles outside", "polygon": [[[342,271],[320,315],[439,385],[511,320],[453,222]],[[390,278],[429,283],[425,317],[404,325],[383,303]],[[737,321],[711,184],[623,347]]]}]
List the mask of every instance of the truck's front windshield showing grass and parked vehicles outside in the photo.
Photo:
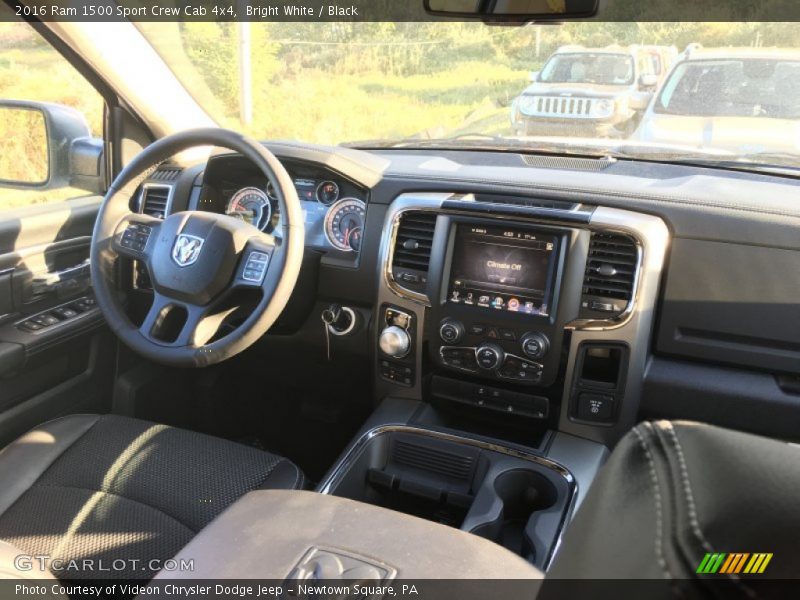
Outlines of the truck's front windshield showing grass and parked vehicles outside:
[{"label": "truck's front windshield showing grass and parked vehicles outside", "polygon": [[800,167],[793,23],[136,27],[220,125],[259,139]]}]

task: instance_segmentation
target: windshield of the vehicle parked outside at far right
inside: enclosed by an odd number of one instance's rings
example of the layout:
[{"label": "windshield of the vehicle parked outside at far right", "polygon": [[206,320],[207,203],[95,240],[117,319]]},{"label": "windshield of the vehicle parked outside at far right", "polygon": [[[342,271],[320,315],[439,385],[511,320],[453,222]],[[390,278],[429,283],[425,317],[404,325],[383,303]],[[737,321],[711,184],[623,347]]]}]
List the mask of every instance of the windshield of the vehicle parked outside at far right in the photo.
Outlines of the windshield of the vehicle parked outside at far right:
[{"label": "windshield of the vehicle parked outside at far right", "polygon": [[800,119],[800,61],[683,63],[664,85],[658,108],[674,115]]}]

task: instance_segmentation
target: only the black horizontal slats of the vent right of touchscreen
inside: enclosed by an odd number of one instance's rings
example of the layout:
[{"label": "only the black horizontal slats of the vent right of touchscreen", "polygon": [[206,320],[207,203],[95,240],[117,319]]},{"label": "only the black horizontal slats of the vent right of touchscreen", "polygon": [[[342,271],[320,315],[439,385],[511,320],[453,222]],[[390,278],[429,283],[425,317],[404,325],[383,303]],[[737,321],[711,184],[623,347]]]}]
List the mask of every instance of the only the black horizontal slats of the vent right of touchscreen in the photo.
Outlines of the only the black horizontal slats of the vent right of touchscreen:
[{"label": "only the black horizontal slats of the vent right of touchscreen", "polygon": [[637,262],[633,239],[617,233],[592,233],[583,279],[584,296],[630,302]]}]

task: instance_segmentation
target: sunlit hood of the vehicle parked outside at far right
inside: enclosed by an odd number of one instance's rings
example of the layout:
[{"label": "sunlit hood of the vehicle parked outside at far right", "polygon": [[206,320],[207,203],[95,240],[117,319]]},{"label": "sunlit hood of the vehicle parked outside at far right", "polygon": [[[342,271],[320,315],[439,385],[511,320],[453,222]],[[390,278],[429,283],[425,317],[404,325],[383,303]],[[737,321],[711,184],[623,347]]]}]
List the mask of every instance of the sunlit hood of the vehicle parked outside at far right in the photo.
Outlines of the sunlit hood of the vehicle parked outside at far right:
[{"label": "sunlit hood of the vehicle parked outside at far right", "polygon": [[687,117],[650,114],[636,140],[730,150],[735,154],[800,151],[800,124],[764,117]]}]

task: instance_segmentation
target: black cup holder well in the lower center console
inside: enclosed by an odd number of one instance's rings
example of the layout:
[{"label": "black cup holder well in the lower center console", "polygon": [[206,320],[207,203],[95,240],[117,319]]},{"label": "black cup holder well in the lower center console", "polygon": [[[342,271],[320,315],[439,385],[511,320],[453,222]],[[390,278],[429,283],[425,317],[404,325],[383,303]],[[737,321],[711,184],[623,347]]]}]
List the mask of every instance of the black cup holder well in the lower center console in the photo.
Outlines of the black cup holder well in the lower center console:
[{"label": "black cup holder well in the lower center console", "polygon": [[526,529],[531,516],[553,506],[558,499],[555,486],[543,475],[528,469],[513,469],[497,476],[494,492],[502,504],[497,519],[472,529],[533,562],[534,544]]}]

